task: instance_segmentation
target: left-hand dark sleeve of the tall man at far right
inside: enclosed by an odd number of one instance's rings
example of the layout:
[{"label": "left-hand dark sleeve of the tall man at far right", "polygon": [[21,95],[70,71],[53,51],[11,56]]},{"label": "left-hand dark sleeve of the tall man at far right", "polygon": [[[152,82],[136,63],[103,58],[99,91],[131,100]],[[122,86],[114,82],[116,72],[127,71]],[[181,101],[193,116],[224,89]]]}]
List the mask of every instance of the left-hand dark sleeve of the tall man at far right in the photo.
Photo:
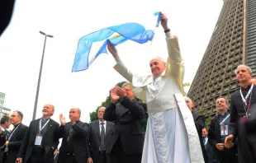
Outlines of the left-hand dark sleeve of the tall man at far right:
[{"label": "left-hand dark sleeve of the tall man at far right", "polygon": [[234,103],[234,96],[231,96],[230,102],[230,134],[234,136],[234,140],[238,134],[238,114]]}]

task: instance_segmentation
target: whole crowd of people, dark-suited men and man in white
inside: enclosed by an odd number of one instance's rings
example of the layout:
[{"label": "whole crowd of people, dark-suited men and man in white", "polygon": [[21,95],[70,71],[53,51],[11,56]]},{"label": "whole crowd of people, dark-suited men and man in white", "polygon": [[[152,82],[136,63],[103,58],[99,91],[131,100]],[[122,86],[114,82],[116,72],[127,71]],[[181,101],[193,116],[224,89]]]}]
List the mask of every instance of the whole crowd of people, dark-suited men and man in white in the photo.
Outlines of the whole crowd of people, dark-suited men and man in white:
[{"label": "whole crowd of people, dark-suited men and man in white", "polygon": [[[111,104],[100,107],[97,121],[80,121],[82,110],[71,108],[69,122],[50,117],[55,106],[47,104],[42,117],[22,124],[21,111],[1,119],[2,163],[250,163],[256,162],[255,98],[253,73],[248,66],[235,70],[240,88],[216,99],[216,117],[205,128],[205,115],[184,97],[183,61],[178,38],[171,35],[168,18],[161,13],[168,60],[149,62],[152,74],[141,77],[126,68],[116,47],[107,48],[115,69],[125,77],[123,86],[111,89]],[[142,119],[148,116],[146,129]],[[9,133],[7,128],[14,126]],[[59,139],[62,138],[59,146]],[[58,148],[59,147],[59,148]]]}]

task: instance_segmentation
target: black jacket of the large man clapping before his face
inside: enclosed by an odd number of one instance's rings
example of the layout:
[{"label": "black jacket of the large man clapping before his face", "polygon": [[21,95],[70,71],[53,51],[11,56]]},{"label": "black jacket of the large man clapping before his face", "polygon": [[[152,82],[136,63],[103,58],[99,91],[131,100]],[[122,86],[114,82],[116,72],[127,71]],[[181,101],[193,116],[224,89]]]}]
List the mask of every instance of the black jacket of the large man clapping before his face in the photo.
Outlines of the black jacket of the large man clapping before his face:
[{"label": "black jacket of the large man clapping before his face", "polygon": [[147,106],[140,100],[130,100],[125,97],[119,104],[111,104],[104,113],[104,119],[115,121],[115,132],[111,137],[112,147],[121,136],[121,146],[126,154],[141,154],[144,145],[145,133],[141,119],[147,112]]}]

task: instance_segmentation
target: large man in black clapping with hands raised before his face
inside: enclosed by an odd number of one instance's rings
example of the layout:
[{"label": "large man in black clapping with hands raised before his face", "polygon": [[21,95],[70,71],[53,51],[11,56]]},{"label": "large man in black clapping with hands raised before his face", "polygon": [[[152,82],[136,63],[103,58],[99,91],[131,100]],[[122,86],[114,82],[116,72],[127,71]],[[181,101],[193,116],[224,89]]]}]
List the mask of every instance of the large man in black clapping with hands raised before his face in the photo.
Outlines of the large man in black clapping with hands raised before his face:
[{"label": "large man in black clapping with hands raised before his face", "polygon": [[[116,104],[117,100],[121,102]],[[141,123],[147,107],[135,98],[130,84],[111,89],[111,105],[107,107],[104,119],[115,121],[115,132],[111,137],[110,151],[113,163],[140,163],[144,144],[144,130]]]}]

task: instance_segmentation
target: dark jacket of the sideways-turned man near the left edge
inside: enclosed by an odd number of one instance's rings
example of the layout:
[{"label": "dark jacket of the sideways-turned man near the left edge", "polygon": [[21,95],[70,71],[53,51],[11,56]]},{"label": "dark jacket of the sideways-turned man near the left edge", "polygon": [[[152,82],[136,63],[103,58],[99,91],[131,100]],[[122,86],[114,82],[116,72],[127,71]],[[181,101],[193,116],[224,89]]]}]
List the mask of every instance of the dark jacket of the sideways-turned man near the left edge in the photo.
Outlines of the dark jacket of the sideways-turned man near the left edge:
[{"label": "dark jacket of the sideways-turned man near the left edge", "polygon": [[25,137],[27,129],[28,127],[21,123],[16,130],[13,129],[9,134],[8,139],[10,136],[12,137],[9,140],[7,162],[16,162],[17,154],[20,150],[21,143]]}]

